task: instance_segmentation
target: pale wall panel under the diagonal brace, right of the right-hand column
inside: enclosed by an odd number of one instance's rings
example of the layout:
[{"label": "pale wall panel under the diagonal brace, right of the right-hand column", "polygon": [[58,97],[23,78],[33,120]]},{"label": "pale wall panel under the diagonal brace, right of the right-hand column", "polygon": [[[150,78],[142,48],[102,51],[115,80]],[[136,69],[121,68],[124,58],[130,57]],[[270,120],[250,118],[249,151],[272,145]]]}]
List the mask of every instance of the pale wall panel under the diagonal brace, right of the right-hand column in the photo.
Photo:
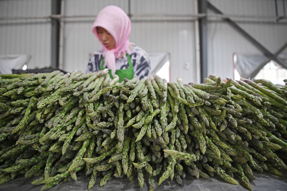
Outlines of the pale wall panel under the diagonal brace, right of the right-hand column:
[{"label": "pale wall panel under the diagonal brace, right of the right-hand column", "polygon": [[208,22],[208,74],[233,78],[233,54],[236,52],[261,54],[227,23]]}]

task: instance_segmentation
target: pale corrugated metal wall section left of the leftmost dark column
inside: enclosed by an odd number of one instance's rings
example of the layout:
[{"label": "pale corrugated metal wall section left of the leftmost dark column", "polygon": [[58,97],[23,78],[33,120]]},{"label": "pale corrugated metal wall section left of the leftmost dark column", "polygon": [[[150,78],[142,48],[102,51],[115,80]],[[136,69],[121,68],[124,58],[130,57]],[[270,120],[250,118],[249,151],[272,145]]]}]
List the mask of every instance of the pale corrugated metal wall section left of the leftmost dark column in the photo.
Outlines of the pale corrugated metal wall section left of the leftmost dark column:
[{"label": "pale corrugated metal wall section left of the leftmost dark column", "polygon": [[51,0],[0,1],[0,54],[30,54],[29,69],[51,65],[50,19],[15,19],[11,17],[51,14]]}]

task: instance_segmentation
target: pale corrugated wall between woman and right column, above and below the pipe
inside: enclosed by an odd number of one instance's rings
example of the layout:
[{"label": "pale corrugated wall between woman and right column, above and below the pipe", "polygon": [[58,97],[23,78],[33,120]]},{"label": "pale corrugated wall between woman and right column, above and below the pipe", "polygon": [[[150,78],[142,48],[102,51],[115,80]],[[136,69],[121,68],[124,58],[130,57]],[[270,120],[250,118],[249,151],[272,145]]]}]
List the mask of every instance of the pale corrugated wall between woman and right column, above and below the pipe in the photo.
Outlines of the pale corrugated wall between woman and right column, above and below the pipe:
[{"label": "pale corrugated wall between woman and right column, above and below the pipe", "polygon": [[[156,3],[155,3],[156,2]],[[194,13],[193,1],[131,1],[132,15],[188,15]],[[133,18],[133,17],[132,17]],[[144,20],[144,18],[142,18]],[[152,17],[150,21],[132,20],[131,42],[147,52],[168,52],[170,54],[171,81],[177,77],[184,82],[194,82],[195,39],[194,21],[170,17]],[[189,68],[184,68],[189,63]]]}]

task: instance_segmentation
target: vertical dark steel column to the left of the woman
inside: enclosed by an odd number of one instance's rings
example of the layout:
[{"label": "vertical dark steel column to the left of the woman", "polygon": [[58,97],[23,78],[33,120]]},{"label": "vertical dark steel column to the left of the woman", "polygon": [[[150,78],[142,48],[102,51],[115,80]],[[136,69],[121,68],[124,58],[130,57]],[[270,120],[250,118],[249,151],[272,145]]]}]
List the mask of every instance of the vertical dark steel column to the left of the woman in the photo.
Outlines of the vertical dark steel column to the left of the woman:
[{"label": "vertical dark steel column to the left of the woman", "polygon": [[[61,1],[52,0],[51,7],[52,15],[57,15],[61,13]],[[53,68],[58,68],[59,64],[59,34],[60,34],[60,24],[58,18],[51,17],[51,66]]]}]

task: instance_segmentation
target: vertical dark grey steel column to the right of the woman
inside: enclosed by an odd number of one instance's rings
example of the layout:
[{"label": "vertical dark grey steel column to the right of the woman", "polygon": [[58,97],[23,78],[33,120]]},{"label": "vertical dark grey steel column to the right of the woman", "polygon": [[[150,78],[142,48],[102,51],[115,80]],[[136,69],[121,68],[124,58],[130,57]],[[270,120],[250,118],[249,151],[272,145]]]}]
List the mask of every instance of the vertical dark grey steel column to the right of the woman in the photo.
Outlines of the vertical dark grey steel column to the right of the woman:
[{"label": "vertical dark grey steel column to the right of the woman", "polygon": [[[207,13],[207,1],[197,0],[198,13]],[[207,18],[202,17],[199,21],[199,47],[200,47],[200,80],[203,83],[204,78],[208,77],[207,65]]]}]

